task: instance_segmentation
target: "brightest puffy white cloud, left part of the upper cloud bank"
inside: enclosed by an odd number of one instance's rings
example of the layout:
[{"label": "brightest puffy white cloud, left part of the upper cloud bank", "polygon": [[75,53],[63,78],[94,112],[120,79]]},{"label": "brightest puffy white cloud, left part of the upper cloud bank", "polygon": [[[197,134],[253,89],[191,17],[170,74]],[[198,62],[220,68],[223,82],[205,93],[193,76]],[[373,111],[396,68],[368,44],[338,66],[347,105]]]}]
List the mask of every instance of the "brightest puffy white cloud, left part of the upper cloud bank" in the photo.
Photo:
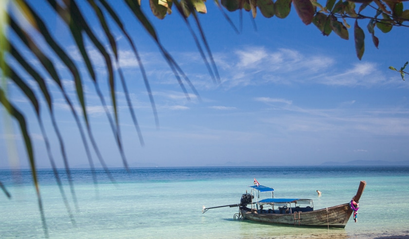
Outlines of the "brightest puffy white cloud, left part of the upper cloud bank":
[{"label": "brightest puffy white cloud, left part of the upper cloud bank", "polygon": [[[224,87],[266,84],[314,83],[317,73],[325,72],[335,60],[323,55],[303,55],[292,49],[269,51],[264,47],[238,50],[233,57],[218,54],[217,62],[224,70]],[[319,79],[319,78],[318,78]],[[320,80],[320,79],[319,79]]]}]

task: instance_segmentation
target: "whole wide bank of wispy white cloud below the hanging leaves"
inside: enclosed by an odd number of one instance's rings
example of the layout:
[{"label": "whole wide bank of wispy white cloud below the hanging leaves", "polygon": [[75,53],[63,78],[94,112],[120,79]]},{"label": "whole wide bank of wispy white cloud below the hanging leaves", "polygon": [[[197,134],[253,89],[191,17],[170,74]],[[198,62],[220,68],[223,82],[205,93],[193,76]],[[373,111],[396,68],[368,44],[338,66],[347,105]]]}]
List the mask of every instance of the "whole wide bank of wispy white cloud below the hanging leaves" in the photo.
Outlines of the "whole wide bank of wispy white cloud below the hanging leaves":
[{"label": "whole wide bank of wispy white cloud below the hanging leaves", "polygon": [[378,64],[370,61],[352,60],[339,64],[333,56],[304,54],[285,48],[271,51],[256,46],[236,50],[233,55],[215,55],[226,89],[267,84],[343,87],[397,84],[396,80],[386,77]]}]

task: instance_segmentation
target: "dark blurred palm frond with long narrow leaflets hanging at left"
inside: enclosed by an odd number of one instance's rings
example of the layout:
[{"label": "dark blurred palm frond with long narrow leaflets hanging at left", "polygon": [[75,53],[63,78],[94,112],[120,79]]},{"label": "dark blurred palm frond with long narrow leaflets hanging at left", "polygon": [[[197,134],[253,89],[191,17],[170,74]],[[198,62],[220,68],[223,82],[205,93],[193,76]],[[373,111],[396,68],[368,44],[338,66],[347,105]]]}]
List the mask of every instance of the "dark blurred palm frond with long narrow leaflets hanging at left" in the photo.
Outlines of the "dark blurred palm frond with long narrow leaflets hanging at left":
[{"label": "dark blurred palm frond with long narrow leaflets hanging at left", "polygon": [[[115,42],[114,37],[112,36],[111,29],[109,28],[107,21],[114,22],[116,26],[121,30],[121,33],[123,36],[126,38],[128,43],[130,44],[133,54],[135,55],[135,58],[138,61],[139,64],[139,69],[141,71],[142,75],[142,80],[144,82],[146,91],[148,92],[149,100],[151,103],[151,108],[153,110],[153,114],[155,117],[155,123],[157,127],[159,127],[159,118],[158,118],[158,113],[154,101],[154,97],[151,91],[151,87],[148,81],[147,74],[144,70],[143,64],[141,57],[138,53],[138,50],[136,48],[136,44],[132,40],[130,34],[125,30],[124,24],[121,21],[121,18],[118,16],[118,14],[113,10],[110,4],[113,3],[108,3],[106,0],[87,0],[87,3],[89,4],[90,9],[92,9],[93,14],[97,17],[101,28],[103,29],[103,32],[105,34],[105,37],[108,40],[109,47],[104,46],[102,41],[98,39],[98,37],[92,32],[91,27],[89,26],[89,23],[87,22],[86,18],[84,18],[83,14],[81,12],[81,9],[77,5],[77,2],[75,0],[62,0],[62,1],[56,1],[56,0],[46,0],[46,2],[49,4],[50,8],[54,11],[55,15],[58,16],[59,18],[62,19],[64,24],[67,26],[67,29],[70,30],[71,37],[75,42],[75,45],[82,57],[83,63],[86,66],[87,72],[89,74],[90,79],[93,82],[95,91],[97,92],[97,95],[100,99],[101,105],[103,106],[105,113],[107,115],[108,122],[110,124],[110,127],[112,129],[112,133],[115,139],[115,142],[117,144],[117,147],[119,149],[119,152],[122,157],[123,165],[125,168],[128,167],[127,165],[127,160],[124,154],[124,148],[123,148],[123,143],[121,140],[121,133],[120,133],[120,127],[119,127],[119,121],[118,121],[118,109],[117,109],[117,97],[115,94],[115,82],[117,81],[114,71],[118,72],[119,75],[119,80],[121,82],[121,85],[124,89],[125,97],[126,97],[126,102],[129,108],[130,115],[132,117],[133,123],[135,125],[136,132],[139,137],[140,144],[143,146],[143,137],[142,137],[142,132],[140,130],[140,127],[138,125],[138,121],[136,118],[136,114],[133,110],[132,107],[132,102],[129,97],[129,92],[127,90],[126,86],[126,81],[127,79],[124,78],[124,74],[121,69],[120,61],[119,61],[119,56],[118,56],[118,46]],[[175,3],[178,4],[177,1]],[[0,40],[1,40],[1,54],[0,54],[0,65],[1,65],[1,79],[4,84],[6,82],[10,81],[13,82],[13,84],[22,92],[22,94],[29,100],[31,103],[31,107],[35,110],[36,112],[36,118],[38,121],[38,125],[40,126],[41,133],[44,139],[44,143],[47,149],[47,154],[50,160],[50,163],[53,167],[53,172],[54,172],[54,177],[56,179],[56,182],[59,187],[60,194],[64,200],[64,204],[67,208],[69,217],[71,222],[74,224],[74,218],[71,213],[71,208],[70,204],[68,202],[68,197],[66,196],[61,179],[58,174],[58,170],[56,168],[56,164],[53,159],[53,155],[51,152],[50,148],[50,142],[47,137],[47,134],[44,129],[44,123],[43,119],[41,118],[40,114],[40,104],[38,103],[40,97],[45,99],[48,111],[50,112],[50,119],[53,125],[53,130],[58,138],[58,144],[60,147],[60,152],[64,161],[64,167],[67,173],[68,177],[68,182],[70,184],[70,191],[71,191],[71,196],[74,201],[75,208],[78,208],[78,203],[76,200],[75,196],[75,190],[72,182],[72,177],[71,177],[71,171],[70,171],[70,165],[69,165],[69,159],[67,157],[67,152],[65,149],[65,144],[64,144],[64,136],[61,134],[57,120],[56,120],[56,113],[53,108],[53,103],[54,99],[49,91],[49,84],[50,82],[47,81],[47,78],[51,78],[53,83],[55,83],[59,89],[60,94],[63,96],[64,100],[68,104],[71,114],[74,117],[74,120],[76,122],[77,128],[80,132],[80,137],[83,142],[87,158],[89,161],[89,166],[92,171],[93,175],[93,180],[94,183],[96,184],[96,176],[94,173],[94,162],[91,157],[91,148],[89,147],[88,140],[91,143],[91,147],[93,151],[96,153],[98,160],[100,164],[104,167],[107,175],[111,179],[111,181],[114,182],[114,179],[110,176],[109,170],[105,164],[105,161],[100,153],[100,150],[95,142],[93,132],[91,129],[91,124],[89,123],[89,117],[88,117],[88,111],[87,111],[87,103],[85,100],[85,92],[83,89],[84,85],[84,79],[79,73],[78,66],[76,63],[74,63],[74,60],[66,53],[66,50],[59,45],[59,43],[54,39],[53,35],[50,33],[49,27],[47,24],[44,22],[41,13],[36,12],[35,9],[30,5],[30,3],[27,0],[10,0],[10,4],[14,4],[16,7],[13,9],[17,9],[17,12],[14,12],[13,14],[9,14],[8,11],[11,11],[7,8],[7,10],[1,9],[5,12],[6,18],[3,18],[0,22],[0,30],[4,29],[5,26],[9,26],[9,28],[13,31],[14,33],[14,38],[13,40],[9,39],[8,35],[4,34],[4,31],[0,31]],[[116,4],[116,3],[115,3]],[[164,48],[164,46],[160,43],[160,39],[156,34],[156,30],[149,21],[149,19],[145,16],[145,14],[142,12],[140,3],[134,0],[124,0],[123,4],[125,7],[127,7],[130,12],[132,12],[133,16],[135,17],[135,21],[139,22],[142,24],[142,27],[147,31],[147,33],[152,37],[153,41],[156,43],[158,46],[160,53],[166,60],[167,64],[169,65],[170,69],[172,70],[173,74],[175,75],[178,84],[182,91],[184,92],[185,96],[187,99],[190,98],[188,89],[185,87],[185,83],[189,86],[190,90],[196,94],[196,96],[199,98],[199,94],[196,91],[195,87],[193,86],[192,82],[189,80],[186,74],[184,74],[183,70],[179,67],[178,63],[175,61],[175,59],[167,52],[167,50]],[[0,11],[1,11],[0,10]],[[185,19],[185,23],[188,26],[188,28],[191,29],[190,23],[186,20],[186,17],[183,15],[183,12],[180,10],[180,4],[178,7],[179,14],[183,16]],[[91,11],[91,12],[92,12]],[[193,8],[190,9],[191,12],[195,13],[195,10]],[[89,12],[87,12],[89,14]],[[62,79],[60,77],[59,70],[55,67],[54,62],[55,60],[50,58],[45,52],[44,48],[41,46],[38,46],[36,43],[36,40],[33,39],[33,36],[26,31],[27,24],[21,22],[21,20],[17,20],[14,16],[23,16],[26,20],[26,22],[29,23],[29,27],[33,30],[35,30],[38,34],[38,36],[41,36],[44,39],[44,42],[47,44],[48,49],[50,49],[54,53],[54,57],[57,57],[60,62],[63,63],[66,69],[69,70],[72,80],[75,84],[75,92],[76,92],[76,97],[78,99],[78,102],[80,104],[80,109],[82,110],[82,117],[83,119],[81,120],[78,113],[75,110],[75,105],[71,101],[66,88],[64,87],[62,83]],[[194,14],[196,18],[196,13]],[[207,55],[209,55],[210,60],[207,58],[207,56],[204,54],[204,51],[200,45],[199,38],[196,37],[196,34],[194,31],[191,29],[191,33],[193,34],[196,45],[199,49],[199,52],[208,68],[209,74],[215,79],[215,82],[220,82],[220,77],[218,76],[216,65],[213,60],[213,56],[211,55],[209,45],[206,42],[206,38],[203,34],[203,30],[200,27],[199,21],[196,18],[196,25],[198,26],[198,29],[200,31],[201,35],[201,40],[202,43],[205,45]],[[22,26],[24,25],[24,27]],[[110,92],[110,101],[111,101],[111,106],[112,106],[112,112],[108,109],[108,105],[105,102],[104,95],[99,87],[98,79],[95,74],[94,66],[90,60],[89,53],[87,52],[87,45],[85,43],[84,37],[87,37],[89,39],[88,44],[92,44],[92,46],[98,50],[98,52],[103,56],[105,66],[107,68],[107,82],[109,85],[109,92]],[[16,45],[14,41],[18,39],[18,41],[22,44]],[[22,49],[24,46],[24,49]],[[40,66],[34,67],[31,63],[30,58],[27,58],[28,56],[25,56],[21,54],[21,51],[30,51],[38,60],[40,63]],[[7,57],[13,58],[14,62],[17,62],[15,64],[18,64],[19,69],[23,69],[28,75],[28,77],[21,77],[17,71],[14,69],[14,66],[11,66],[8,64],[8,58]],[[209,61],[211,63],[209,63]],[[212,65],[212,67],[211,67]],[[116,68],[114,68],[116,66]],[[115,70],[116,69],[116,70]],[[26,83],[28,79],[33,79],[38,88],[39,92],[34,92],[32,90],[32,87]],[[184,83],[185,82],[185,83]],[[3,86],[4,86],[3,84]],[[37,174],[36,174],[36,159],[34,157],[33,153],[33,146],[30,138],[30,133],[27,128],[26,124],[26,118],[25,116],[13,105],[12,102],[10,102],[10,99],[8,98],[9,96],[7,95],[7,88],[6,87],[0,87],[0,102],[3,105],[3,107],[6,109],[6,111],[18,122],[20,132],[23,136],[24,139],[24,145],[26,152],[28,154],[29,158],[29,163],[31,166],[31,170],[33,172],[33,183],[36,187],[36,193],[37,193],[37,198],[38,198],[38,207],[40,210],[40,216],[41,216],[41,221],[43,225],[43,230],[44,234],[46,237],[48,237],[48,229],[47,229],[47,223],[46,223],[46,217],[45,213],[43,210],[43,203],[41,200],[41,194],[40,194],[40,189],[38,185],[38,179],[37,179]],[[85,124],[85,130],[83,129],[82,124]],[[88,138],[88,140],[87,140]],[[7,197],[11,198],[11,194],[7,191],[7,188],[0,182],[0,187],[2,191],[7,195]]]}]

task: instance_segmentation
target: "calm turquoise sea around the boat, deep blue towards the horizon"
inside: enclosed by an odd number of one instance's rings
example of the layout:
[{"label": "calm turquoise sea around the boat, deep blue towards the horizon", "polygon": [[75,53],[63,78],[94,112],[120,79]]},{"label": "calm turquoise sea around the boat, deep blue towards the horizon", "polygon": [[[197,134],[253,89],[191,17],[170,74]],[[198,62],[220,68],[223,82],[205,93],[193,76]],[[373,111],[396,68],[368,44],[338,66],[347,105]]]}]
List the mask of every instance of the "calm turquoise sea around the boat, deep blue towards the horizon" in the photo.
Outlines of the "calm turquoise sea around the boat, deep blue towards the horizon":
[{"label": "calm turquoise sea around the boat, deep blue towards the horizon", "polygon": [[[72,169],[74,205],[61,173],[75,225],[71,223],[53,171],[38,172],[50,238],[386,238],[409,237],[409,167],[174,167]],[[367,182],[358,222],[345,229],[275,226],[233,220],[237,207],[202,214],[207,207],[235,204],[256,178],[276,198],[310,198],[315,209],[349,202]],[[0,170],[0,238],[44,238],[35,189],[28,170]],[[316,190],[322,192],[318,197]]]}]

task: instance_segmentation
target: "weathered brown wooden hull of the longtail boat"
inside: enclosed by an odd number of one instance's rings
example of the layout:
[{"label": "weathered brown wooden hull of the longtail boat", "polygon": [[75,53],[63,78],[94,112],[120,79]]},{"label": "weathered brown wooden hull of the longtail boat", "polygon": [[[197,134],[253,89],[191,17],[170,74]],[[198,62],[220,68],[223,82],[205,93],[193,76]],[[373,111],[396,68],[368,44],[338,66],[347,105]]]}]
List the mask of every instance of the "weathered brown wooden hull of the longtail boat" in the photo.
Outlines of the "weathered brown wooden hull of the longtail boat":
[{"label": "weathered brown wooden hull of the longtail boat", "polygon": [[292,214],[258,214],[249,208],[240,210],[244,219],[274,224],[345,228],[352,214],[349,203],[309,212]]}]

